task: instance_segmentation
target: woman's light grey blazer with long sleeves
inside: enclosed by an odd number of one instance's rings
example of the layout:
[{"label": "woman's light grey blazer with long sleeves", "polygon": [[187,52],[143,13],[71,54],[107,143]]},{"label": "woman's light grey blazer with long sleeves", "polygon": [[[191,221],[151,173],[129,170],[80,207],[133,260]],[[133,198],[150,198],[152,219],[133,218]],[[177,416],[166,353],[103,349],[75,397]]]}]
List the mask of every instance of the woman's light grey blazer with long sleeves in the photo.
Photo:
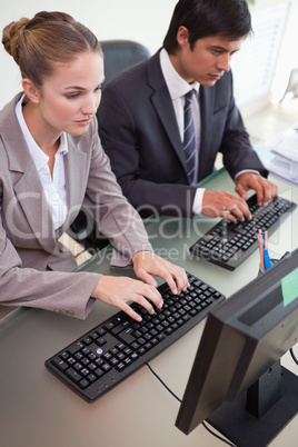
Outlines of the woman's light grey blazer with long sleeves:
[{"label": "woman's light grey blazer with long sleeves", "polygon": [[67,137],[68,216],[64,225],[54,231],[34,162],[16,117],[20,95],[0,111],[0,301],[86,318],[95,301],[90,294],[99,275],[71,272],[74,258],[58,242],[81,206],[91,210],[100,231],[123,254],[127,264],[137,251],[151,250],[151,246],[139,215],[123,198],[110,170],[96,118],[83,136]]}]

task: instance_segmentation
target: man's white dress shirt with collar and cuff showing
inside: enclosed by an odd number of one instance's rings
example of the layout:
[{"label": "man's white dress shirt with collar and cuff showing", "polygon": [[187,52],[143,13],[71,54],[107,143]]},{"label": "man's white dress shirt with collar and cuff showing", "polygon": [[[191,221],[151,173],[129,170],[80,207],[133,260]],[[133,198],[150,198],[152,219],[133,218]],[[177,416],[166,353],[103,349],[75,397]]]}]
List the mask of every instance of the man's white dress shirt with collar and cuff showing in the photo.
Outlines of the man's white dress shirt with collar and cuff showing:
[{"label": "man's white dress shirt with collar and cuff showing", "polygon": [[[193,82],[193,83],[188,83],[183,78],[178,74],[178,72],[175,70],[168,52],[162,48],[160,51],[160,67],[161,71],[166,81],[166,85],[168,87],[171,100],[172,100],[172,106],[175,110],[175,115],[177,118],[177,123],[178,123],[178,129],[180,132],[181,141],[183,142],[183,132],[185,132],[185,95],[190,91],[191,89],[195,89],[197,91],[197,97],[199,92],[200,85],[199,82]],[[199,161],[199,147],[200,147],[200,108],[199,108],[199,102],[193,100],[191,102],[191,109],[192,109],[192,116],[193,116],[193,123],[195,123],[195,136],[196,136],[196,145],[198,150],[196,151],[196,177],[198,173],[198,161]],[[201,212],[201,207],[202,207],[202,196],[205,192],[205,188],[197,188],[197,192],[195,196],[195,200],[192,203],[192,212],[195,215],[198,215]]]}]

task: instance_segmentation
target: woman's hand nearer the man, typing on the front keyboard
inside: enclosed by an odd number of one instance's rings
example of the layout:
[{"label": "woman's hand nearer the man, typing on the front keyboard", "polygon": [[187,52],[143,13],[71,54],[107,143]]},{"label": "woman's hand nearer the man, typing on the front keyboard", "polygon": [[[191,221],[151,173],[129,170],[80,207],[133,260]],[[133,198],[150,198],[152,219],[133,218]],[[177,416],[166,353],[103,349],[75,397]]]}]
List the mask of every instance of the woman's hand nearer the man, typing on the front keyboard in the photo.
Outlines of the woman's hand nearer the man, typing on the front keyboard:
[{"label": "woman's hand nearer the man, typing on the front keyboard", "polygon": [[152,251],[138,251],[132,261],[136,275],[148,285],[157,287],[157,281],[151,276],[155,275],[162,278],[175,295],[189,287],[185,269],[160,258]]}]

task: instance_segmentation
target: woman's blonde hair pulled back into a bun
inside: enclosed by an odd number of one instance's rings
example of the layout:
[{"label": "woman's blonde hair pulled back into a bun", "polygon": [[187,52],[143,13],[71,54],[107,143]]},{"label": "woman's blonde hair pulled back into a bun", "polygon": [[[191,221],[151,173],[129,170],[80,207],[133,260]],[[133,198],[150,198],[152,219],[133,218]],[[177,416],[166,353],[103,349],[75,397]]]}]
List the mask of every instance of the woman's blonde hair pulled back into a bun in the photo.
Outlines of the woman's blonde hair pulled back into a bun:
[{"label": "woman's blonde hair pulled back into a bun", "polygon": [[64,12],[38,12],[6,26],[2,43],[20,67],[22,78],[42,87],[56,62],[69,62],[85,51],[102,54],[96,36]]}]

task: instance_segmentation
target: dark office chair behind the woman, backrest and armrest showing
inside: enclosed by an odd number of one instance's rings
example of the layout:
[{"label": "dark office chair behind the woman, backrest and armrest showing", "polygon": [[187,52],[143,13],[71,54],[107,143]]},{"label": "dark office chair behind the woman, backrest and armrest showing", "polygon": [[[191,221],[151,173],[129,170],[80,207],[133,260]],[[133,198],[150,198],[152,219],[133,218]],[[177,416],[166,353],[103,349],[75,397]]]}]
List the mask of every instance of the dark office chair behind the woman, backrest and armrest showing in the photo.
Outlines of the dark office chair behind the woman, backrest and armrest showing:
[{"label": "dark office chair behind the woman, backrest and armrest showing", "polygon": [[[103,89],[118,73],[150,57],[145,46],[131,40],[105,40],[101,42],[101,48],[105,54]],[[83,207],[67,232],[91,254],[109,245],[109,239],[99,232],[98,225]]]}]

